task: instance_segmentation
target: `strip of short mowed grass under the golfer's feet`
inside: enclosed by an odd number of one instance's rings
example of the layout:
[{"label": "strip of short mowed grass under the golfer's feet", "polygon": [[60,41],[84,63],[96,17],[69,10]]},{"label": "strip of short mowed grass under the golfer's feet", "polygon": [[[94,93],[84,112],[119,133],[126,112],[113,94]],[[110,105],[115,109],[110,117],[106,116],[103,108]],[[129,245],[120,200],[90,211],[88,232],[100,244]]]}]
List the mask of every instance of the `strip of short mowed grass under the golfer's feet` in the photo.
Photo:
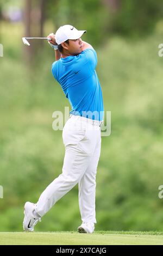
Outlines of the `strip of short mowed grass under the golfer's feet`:
[{"label": "strip of short mowed grass under the golfer's feet", "polygon": [[163,245],[162,233],[1,232],[0,245]]}]

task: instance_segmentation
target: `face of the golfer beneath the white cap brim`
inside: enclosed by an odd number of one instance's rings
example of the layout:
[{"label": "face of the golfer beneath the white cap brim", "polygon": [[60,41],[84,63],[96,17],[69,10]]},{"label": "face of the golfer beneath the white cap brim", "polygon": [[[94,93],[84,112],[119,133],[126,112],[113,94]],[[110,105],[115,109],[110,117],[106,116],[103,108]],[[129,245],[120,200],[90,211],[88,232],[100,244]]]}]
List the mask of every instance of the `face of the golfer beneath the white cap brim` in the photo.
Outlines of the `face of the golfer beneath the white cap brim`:
[{"label": "face of the golfer beneath the white cap brim", "polygon": [[78,55],[79,53],[83,52],[83,41],[81,38],[78,39],[69,39],[69,44],[66,44],[67,51],[71,55]]}]

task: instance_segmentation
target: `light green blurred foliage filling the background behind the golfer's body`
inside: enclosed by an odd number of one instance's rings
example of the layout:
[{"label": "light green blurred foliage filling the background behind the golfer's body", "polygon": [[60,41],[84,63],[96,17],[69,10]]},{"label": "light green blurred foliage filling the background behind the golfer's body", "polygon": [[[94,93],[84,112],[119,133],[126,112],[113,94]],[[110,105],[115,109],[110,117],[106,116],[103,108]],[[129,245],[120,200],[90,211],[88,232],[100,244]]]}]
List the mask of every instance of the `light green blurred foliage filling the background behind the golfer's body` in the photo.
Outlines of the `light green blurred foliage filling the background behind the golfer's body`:
[{"label": "light green blurred foliage filling the background behind the golfer's body", "polygon": [[[10,31],[12,41],[7,40]],[[22,230],[24,203],[37,202],[41,192],[61,173],[64,159],[61,131],[52,130],[52,113],[64,112],[69,103],[51,73],[53,50],[45,42],[30,67],[23,54],[26,46],[22,44],[22,31],[21,24],[3,23],[1,231]],[[163,59],[158,57],[158,44],[162,32],[136,41],[122,36],[106,36],[105,40],[103,48],[96,48],[97,74],[105,110],[111,111],[111,135],[102,138],[96,230],[161,230],[163,199],[158,198],[158,187],[163,182]],[[35,230],[76,230],[78,224],[76,186]]]}]

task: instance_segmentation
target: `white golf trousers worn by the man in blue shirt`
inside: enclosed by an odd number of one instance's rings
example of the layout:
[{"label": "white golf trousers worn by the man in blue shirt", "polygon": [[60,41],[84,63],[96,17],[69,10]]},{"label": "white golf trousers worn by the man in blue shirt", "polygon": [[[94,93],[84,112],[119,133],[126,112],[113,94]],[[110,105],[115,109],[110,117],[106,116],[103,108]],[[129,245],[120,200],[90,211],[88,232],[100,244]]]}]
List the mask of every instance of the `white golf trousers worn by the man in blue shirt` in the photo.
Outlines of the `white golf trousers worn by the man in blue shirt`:
[{"label": "white golf trousers worn by the man in blue shirt", "polygon": [[83,222],[96,223],[96,170],[101,151],[101,122],[71,115],[62,138],[65,157],[62,173],[41,194],[36,212],[42,217],[76,184],[79,185],[79,209]]}]

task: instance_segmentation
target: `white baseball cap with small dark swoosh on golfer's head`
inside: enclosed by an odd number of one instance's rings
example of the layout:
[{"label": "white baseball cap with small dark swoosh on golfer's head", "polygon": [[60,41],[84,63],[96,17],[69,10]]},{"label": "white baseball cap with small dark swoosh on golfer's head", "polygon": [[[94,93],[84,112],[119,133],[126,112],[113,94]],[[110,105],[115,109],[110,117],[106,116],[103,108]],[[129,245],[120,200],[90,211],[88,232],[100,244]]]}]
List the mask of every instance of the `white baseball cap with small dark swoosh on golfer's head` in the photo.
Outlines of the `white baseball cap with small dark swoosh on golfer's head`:
[{"label": "white baseball cap with small dark swoosh on golfer's head", "polygon": [[78,31],[78,29],[71,25],[64,25],[61,26],[55,33],[55,41],[58,45],[60,45],[62,42],[65,42],[68,39],[80,38],[85,32],[86,30]]}]

